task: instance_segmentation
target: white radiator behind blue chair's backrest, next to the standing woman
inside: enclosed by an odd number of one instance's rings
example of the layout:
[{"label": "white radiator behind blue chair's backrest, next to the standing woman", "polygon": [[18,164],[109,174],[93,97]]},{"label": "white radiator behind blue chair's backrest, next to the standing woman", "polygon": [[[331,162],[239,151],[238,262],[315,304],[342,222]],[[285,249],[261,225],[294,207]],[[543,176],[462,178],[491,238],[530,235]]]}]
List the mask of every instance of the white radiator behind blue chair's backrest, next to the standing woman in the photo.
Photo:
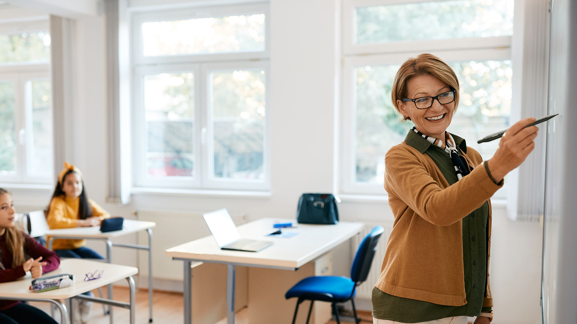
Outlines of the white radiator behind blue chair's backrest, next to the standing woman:
[{"label": "white radiator behind blue chair's backrest, next to the standing woman", "polygon": [[379,276],[381,274],[381,264],[383,263],[383,259],[385,258],[385,251],[387,250],[387,241],[389,240],[389,235],[391,235],[391,231],[393,228],[392,223],[370,223],[365,222],[365,227],[362,228],[361,235],[355,235],[353,237],[353,256],[351,260],[354,259],[354,254],[357,253],[357,249],[359,244],[361,244],[362,239],[365,238],[373,229],[373,227],[381,225],[385,231],[381,234],[381,238],[379,239],[379,243],[377,243],[377,251],[374,253],[373,263],[370,266],[369,276],[366,278],[366,281],[363,282],[361,285],[357,287],[357,297],[366,298],[370,300],[370,297],[373,292],[374,284],[377,283],[379,280]]}]

